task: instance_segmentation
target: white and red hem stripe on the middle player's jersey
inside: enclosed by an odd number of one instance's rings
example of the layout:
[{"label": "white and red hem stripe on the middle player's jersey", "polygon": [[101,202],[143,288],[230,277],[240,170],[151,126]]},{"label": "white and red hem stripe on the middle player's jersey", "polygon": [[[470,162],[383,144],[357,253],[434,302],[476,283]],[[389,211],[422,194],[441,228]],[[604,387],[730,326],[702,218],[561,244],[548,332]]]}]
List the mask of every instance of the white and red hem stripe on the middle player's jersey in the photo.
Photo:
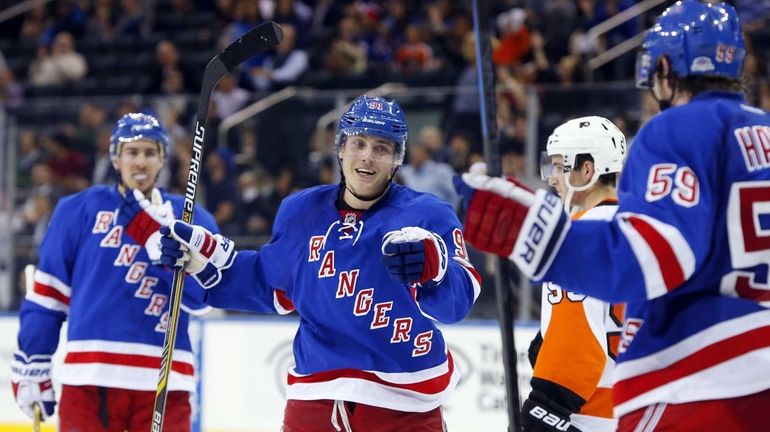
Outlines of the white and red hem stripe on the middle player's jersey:
[{"label": "white and red hem stripe on the middle player's jersey", "polygon": [[416,372],[337,369],[301,375],[291,369],[286,398],[335,399],[397,411],[427,412],[446,402],[460,378],[451,353],[447,353],[444,363]]}]

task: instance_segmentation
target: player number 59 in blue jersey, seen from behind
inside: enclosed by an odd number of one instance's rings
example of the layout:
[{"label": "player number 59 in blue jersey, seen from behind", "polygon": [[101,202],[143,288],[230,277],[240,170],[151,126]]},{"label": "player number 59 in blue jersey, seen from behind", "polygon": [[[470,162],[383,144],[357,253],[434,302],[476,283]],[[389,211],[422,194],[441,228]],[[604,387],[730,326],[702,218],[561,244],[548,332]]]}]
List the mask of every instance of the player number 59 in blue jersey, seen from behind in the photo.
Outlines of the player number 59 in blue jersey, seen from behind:
[{"label": "player number 59 in blue jersey, seen from behind", "polygon": [[[505,179],[457,182],[469,243],[627,302],[620,431],[768,429],[770,117],[741,92],[745,52],[727,4],[682,0],[657,19],[637,72],[663,111],[634,139],[611,221],[570,222],[555,196]],[[558,417],[556,405],[530,412]]]}]

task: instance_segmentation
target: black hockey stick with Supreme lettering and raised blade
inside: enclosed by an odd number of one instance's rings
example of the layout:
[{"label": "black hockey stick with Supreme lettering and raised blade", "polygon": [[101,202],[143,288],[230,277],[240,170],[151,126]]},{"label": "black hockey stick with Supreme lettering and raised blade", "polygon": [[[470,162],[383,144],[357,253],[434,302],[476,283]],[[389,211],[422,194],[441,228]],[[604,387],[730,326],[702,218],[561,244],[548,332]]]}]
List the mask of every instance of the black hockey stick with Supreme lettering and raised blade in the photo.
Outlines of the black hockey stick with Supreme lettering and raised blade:
[{"label": "black hockey stick with Supreme lettering and raised blade", "polygon": [[[203,155],[203,145],[205,144],[204,139],[206,136],[206,121],[208,118],[209,102],[214,87],[216,87],[219,80],[221,80],[226,73],[230,72],[247,59],[278,45],[282,39],[283,31],[281,30],[281,27],[272,21],[268,21],[249,30],[240,39],[217,54],[217,56],[211,59],[209,64],[206,65],[206,70],[203,72],[201,93],[198,96],[198,111],[195,114],[195,138],[193,140],[192,157],[190,158],[190,169],[187,172],[187,188],[185,189],[184,208],[182,210],[183,221],[192,223],[193,211],[195,210],[195,194],[198,189],[198,176],[201,168],[201,157]],[[166,336],[163,340],[163,353],[160,363],[160,373],[158,376],[158,388],[155,392],[155,408],[152,413],[151,432],[161,432],[163,430],[163,414],[166,410],[168,379],[171,375],[183,284],[184,271],[182,267],[177,267],[174,269],[174,279],[169,301],[168,324],[166,326]]]}]

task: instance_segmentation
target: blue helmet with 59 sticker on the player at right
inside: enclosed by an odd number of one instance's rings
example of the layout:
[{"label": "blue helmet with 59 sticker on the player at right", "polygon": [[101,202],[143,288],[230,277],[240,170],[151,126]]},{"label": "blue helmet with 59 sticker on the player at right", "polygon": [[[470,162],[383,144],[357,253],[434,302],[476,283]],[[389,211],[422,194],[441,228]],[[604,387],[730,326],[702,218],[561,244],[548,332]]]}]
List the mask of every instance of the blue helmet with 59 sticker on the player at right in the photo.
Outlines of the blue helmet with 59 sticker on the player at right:
[{"label": "blue helmet with 59 sticker on the player at right", "polygon": [[644,38],[636,63],[637,87],[652,86],[664,55],[677,77],[740,79],[746,44],[735,9],[698,0],[680,0],[666,9]]}]

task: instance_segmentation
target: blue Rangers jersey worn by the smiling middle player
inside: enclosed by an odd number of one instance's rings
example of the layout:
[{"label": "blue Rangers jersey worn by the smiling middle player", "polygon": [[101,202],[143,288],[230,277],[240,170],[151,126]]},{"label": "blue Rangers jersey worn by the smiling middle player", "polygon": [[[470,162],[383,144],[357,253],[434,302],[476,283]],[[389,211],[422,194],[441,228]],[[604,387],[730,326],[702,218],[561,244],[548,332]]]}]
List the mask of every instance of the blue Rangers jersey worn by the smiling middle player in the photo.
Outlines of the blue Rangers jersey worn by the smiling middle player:
[{"label": "blue Rangers jersey worn by the smiling middle player", "polygon": [[[340,211],[339,185],[286,198],[273,237],[241,251],[208,303],[300,316],[288,399],[332,399],[408,412],[440,406],[460,379],[434,321],[457,322],[480,292],[452,207],[392,184],[362,213]],[[446,276],[434,287],[396,282],[381,262],[389,231],[419,226],[447,245]]]}]

